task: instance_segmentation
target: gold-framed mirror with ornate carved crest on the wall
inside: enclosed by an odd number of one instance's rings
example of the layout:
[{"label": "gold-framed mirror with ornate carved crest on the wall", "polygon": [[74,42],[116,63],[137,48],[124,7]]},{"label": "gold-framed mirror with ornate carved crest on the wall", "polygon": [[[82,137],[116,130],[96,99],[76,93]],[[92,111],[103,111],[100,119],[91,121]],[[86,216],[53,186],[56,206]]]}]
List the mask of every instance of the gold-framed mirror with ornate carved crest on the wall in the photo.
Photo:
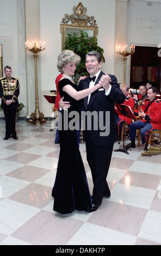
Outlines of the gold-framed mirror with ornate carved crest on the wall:
[{"label": "gold-framed mirror with ornate carved crest on the wall", "polygon": [[[61,48],[64,49],[64,42],[67,34],[80,34],[79,30],[85,31],[89,36],[97,37],[98,27],[96,26],[96,20],[94,16],[88,16],[86,14],[86,7],[83,7],[82,3],[79,3],[77,7],[73,7],[74,13],[69,15],[65,14],[65,17],[60,24],[61,32]],[[68,22],[71,21],[71,25]],[[90,26],[88,26],[88,23]]]}]

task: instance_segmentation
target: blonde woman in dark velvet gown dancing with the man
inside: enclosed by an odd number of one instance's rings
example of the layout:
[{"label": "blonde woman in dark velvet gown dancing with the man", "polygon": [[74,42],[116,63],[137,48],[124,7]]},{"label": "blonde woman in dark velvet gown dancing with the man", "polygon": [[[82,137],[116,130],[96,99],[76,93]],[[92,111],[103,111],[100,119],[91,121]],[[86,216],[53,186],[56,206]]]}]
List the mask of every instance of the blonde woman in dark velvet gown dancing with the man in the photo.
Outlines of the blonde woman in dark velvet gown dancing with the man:
[{"label": "blonde woman in dark velvet gown dancing with the man", "polygon": [[79,126],[81,99],[101,88],[101,85],[98,83],[92,88],[78,91],[72,76],[75,75],[79,62],[80,57],[70,50],[64,50],[58,56],[57,67],[60,72],[63,71],[63,77],[58,84],[59,93],[61,97],[64,97],[64,101],[70,102],[70,108],[61,112],[59,121],[60,154],[57,175],[52,190],[52,196],[54,197],[53,210],[60,214],[69,214],[75,210],[88,212],[91,209],[91,196],[79,151],[80,127],[71,129],[70,122],[72,118],[69,118],[69,114],[72,111],[79,114],[79,120],[76,122]]}]

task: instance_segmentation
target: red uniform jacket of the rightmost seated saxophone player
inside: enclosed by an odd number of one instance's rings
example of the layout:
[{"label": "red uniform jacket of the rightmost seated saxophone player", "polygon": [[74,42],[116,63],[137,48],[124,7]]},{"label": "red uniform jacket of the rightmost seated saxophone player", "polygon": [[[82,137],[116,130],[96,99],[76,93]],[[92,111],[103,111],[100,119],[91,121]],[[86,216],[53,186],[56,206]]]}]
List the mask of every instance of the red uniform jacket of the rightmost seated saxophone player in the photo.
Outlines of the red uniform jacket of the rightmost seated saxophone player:
[{"label": "red uniform jacket of the rightmost seated saxophone player", "polygon": [[161,102],[154,99],[145,100],[145,105],[142,104],[141,109],[146,114],[145,119],[141,120],[143,122],[150,121],[153,126],[153,130],[161,130]]}]

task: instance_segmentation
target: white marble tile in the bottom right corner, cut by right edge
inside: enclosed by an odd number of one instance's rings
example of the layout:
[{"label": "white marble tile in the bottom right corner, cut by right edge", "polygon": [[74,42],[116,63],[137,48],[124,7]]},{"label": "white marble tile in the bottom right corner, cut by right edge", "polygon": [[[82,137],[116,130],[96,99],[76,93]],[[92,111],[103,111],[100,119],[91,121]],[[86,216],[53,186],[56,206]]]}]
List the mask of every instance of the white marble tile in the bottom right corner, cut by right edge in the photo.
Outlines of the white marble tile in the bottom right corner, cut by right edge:
[{"label": "white marble tile in the bottom right corner, cut by right edge", "polygon": [[138,237],[161,243],[161,212],[151,210],[147,212]]}]

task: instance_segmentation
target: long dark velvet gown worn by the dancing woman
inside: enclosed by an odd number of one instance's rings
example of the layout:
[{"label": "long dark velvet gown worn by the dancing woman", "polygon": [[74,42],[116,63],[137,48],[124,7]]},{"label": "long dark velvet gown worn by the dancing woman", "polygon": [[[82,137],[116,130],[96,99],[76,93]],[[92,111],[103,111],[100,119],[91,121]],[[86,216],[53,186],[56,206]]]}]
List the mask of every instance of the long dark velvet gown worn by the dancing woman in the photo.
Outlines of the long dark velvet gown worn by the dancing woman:
[{"label": "long dark velvet gown worn by the dancing woman", "polygon": [[[68,116],[71,111],[76,111],[80,117],[81,101],[76,101],[63,92],[63,87],[66,84],[70,84],[77,91],[78,87],[67,78],[59,81],[60,96],[64,96],[64,101],[69,101],[71,105],[68,109]],[[79,127],[78,130],[61,129],[61,124],[65,127],[66,122],[69,124],[71,121],[70,118],[67,120],[64,118],[66,113],[66,111],[62,112],[62,123],[59,121],[60,154],[57,175],[52,190],[52,196],[54,197],[53,210],[60,214],[69,214],[75,210],[88,211],[91,209],[91,196],[79,151]]]}]

